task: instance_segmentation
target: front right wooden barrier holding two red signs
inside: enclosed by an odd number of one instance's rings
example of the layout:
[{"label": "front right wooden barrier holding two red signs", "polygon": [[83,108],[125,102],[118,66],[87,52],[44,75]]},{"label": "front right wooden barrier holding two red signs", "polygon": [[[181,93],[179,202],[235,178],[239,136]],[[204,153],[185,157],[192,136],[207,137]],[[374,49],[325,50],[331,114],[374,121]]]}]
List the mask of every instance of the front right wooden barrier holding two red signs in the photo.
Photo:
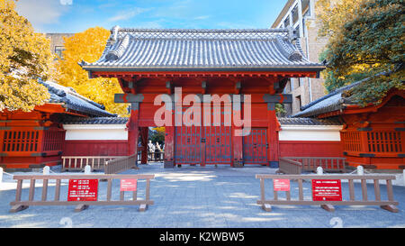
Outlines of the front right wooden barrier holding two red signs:
[{"label": "front right wooden barrier holding two red signs", "polygon": [[[328,211],[334,211],[333,205],[380,205],[383,209],[397,213],[399,210],[395,205],[399,203],[394,201],[392,193],[392,179],[395,179],[393,175],[266,175],[257,174],[256,178],[260,179],[260,200],[257,200],[257,205],[262,205],[262,208],[266,211],[271,211],[271,205],[320,205],[322,208]],[[273,199],[266,199],[265,193],[265,179],[289,179],[297,180],[299,197],[296,200],[291,199],[290,190],[285,191],[286,199],[278,199],[278,192],[275,191],[273,186]],[[303,196],[302,181],[304,179],[347,179],[349,187],[349,199],[341,201],[313,201],[305,200]],[[355,197],[355,184],[354,180],[361,180],[362,187],[362,200],[356,200]],[[374,200],[369,200],[367,196],[366,180],[374,180]],[[382,200],[380,192],[380,180],[385,180],[387,184],[387,200]],[[313,192],[313,191],[312,191]]]}]

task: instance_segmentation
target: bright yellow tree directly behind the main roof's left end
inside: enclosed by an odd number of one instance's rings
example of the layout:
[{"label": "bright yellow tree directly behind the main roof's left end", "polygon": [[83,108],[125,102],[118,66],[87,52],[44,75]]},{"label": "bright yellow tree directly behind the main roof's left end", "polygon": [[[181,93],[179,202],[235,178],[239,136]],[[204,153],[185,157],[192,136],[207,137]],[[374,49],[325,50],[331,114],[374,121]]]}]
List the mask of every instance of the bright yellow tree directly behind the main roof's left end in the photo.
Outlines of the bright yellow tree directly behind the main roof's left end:
[{"label": "bright yellow tree directly behind the main roof's left end", "polygon": [[94,62],[103,53],[110,31],[102,27],[89,28],[66,38],[63,59],[58,59],[57,81],[64,87],[72,87],[82,96],[104,105],[105,110],[121,116],[128,115],[127,104],[115,104],[114,94],[122,93],[116,78],[89,78],[88,73],[78,63],[82,60]]}]

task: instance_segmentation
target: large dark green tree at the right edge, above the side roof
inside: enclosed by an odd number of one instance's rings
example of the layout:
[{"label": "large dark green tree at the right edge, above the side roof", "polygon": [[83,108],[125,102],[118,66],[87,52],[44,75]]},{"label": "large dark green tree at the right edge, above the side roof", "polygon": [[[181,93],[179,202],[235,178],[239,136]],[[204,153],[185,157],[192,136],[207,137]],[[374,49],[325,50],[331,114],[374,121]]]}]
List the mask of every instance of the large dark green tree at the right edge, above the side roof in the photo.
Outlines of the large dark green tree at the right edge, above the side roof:
[{"label": "large dark green tree at the right edge, above the side roof", "polygon": [[[359,105],[379,104],[392,88],[404,89],[403,2],[365,0],[360,5],[356,4],[351,5],[351,11],[347,13],[345,7],[348,5],[333,6],[342,16],[340,25],[327,25],[328,18],[320,18],[320,35],[329,35],[329,43],[323,53],[328,61],[328,68],[323,72],[325,86],[331,91],[363,77],[371,77],[348,91],[346,96],[352,96]],[[333,32],[326,31],[328,29],[333,29]],[[390,73],[381,75],[383,71]]]}]

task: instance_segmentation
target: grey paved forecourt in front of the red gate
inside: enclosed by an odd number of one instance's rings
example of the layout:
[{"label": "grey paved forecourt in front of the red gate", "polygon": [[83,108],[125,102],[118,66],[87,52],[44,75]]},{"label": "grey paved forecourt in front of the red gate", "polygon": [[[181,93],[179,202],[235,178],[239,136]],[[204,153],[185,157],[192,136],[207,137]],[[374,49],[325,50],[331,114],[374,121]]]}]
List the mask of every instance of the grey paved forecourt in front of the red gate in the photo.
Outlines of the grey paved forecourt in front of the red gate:
[{"label": "grey paved forecourt in front of the red gate", "polygon": [[[400,202],[397,214],[379,206],[336,206],[336,211],[329,213],[319,206],[279,205],[273,206],[272,212],[265,212],[256,204],[260,189],[255,175],[275,173],[275,169],[198,166],[163,169],[157,163],[125,173],[156,174],[151,181],[155,205],[150,205],[145,213],[138,212],[138,206],[94,205],[80,213],[74,212],[75,206],[31,206],[10,214],[9,203],[14,200],[16,183],[4,177],[0,187],[0,227],[405,227],[405,187],[400,186],[393,187],[394,197]],[[37,182],[35,195],[40,197],[40,181]],[[53,194],[52,185],[49,194]],[[311,197],[310,185],[304,182],[306,197]],[[24,187],[28,186],[29,183],[24,183]],[[100,182],[100,186],[100,191],[106,190],[106,182]],[[139,197],[144,197],[144,186],[145,182],[139,182]],[[342,186],[347,190],[347,183]],[[119,190],[118,180],[112,188]],[[385,186],[381,188],[382,196],[386,197]],[[368,189],[371,191],[373,187]],[[23,197],[27,196],[27,190],[24,189]],[[119,192],[115,193],[112,198],[118,199]],[[61,194],[67,196],[67,181]],[[356,194],[361,196],[360,184],[356,184]],[[297,196],[295,182],[292,197]],[[99,197],[104,199],[105,193]]]}]

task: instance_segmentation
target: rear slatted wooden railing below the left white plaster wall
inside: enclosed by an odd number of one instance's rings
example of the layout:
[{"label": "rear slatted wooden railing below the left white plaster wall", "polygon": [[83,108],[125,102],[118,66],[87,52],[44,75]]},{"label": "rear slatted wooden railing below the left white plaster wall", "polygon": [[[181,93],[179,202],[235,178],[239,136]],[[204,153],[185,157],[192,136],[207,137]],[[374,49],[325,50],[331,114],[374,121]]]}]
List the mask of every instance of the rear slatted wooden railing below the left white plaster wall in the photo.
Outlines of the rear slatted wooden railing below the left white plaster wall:
[{"label": "rear slatted wooden railing below the left white plaster wall", "polygon": [[84,170],[89,165],[92,170],[103,170],[108,160],[124,158],[123,156],[62,156],[62,171]]}]

